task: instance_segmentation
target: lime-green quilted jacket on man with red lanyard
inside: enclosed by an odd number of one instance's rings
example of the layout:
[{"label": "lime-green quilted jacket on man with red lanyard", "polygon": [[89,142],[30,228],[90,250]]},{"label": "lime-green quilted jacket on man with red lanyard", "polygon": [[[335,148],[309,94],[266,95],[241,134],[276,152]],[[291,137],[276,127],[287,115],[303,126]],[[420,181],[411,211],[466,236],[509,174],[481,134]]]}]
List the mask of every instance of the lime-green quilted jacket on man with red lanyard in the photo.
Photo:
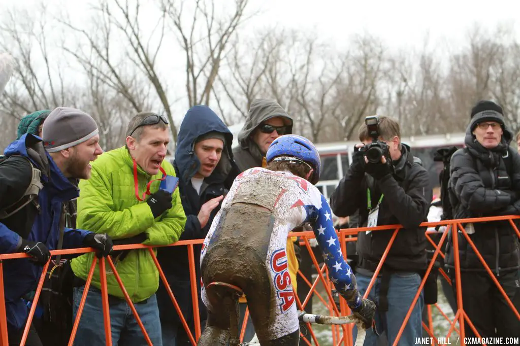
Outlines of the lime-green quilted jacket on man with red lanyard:
[{"label": "lime-green quilted jacket on man with red lanyard", "polygon": [[[166,174],[175,176],[173,166],[166,161],[161,165]],[[139,193],[159,174],[150,177],[138,169]],[[150,193],[159,189],[159,181],[151,184]],[[114,239],[127,238],[145,232],[145,245],[167,245],[176,242],[184,231],[186,215],[178,189],[173,194],[173,207],[161,217],[153,219],[146,200],[139,202],[135,195],[133,161],[125,147],[103,153],[92,163],[92,176],[80,182],[77,202],[77,227],[96,233],[107,233]],[[89,252],[72,260],[72,270],[86,280],[95,254]],[[114,263],[133,302],[151,297],[159,287],[159,272],[148,249],[131,250],[123,261]],[[100,288],[99,266],[94,271],[92,285]],[[110,265],[107,262],[107,286],[110,295],[123,298]]]}]

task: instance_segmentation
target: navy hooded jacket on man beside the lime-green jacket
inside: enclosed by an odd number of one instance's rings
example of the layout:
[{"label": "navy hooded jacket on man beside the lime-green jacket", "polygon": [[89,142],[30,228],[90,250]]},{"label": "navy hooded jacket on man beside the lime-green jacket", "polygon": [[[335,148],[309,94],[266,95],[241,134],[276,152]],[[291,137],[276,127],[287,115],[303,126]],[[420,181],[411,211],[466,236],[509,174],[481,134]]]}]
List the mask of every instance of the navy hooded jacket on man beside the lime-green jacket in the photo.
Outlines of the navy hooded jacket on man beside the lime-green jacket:
[{"label": "navy hooded jacket on man beside the lime-green jacket", "polygon": [[[194,147],[200,136],[212,131],[222,133],[226,143],[220,161],[211,176],[204,178],[199,195],[191,184],[191,178],[193,178],[200,168],[200,161],[194,151]],[[179,178],[180,199],[186,214],[186,226],[179,240],[204,239],[210,230],[211,223],[220,209],[220,205],[213,209],[204,228],[201,228],[197,216],[204,203],[212,198],[226,195],[233,180],[235,180],[239,174],[238,167],[233,161],[233,153],[231,151],[232,141],[233,135],[231,131],[229,131],[227,126],[209,107],[197,105],[190,108],[186,113],[183,123],[180,125],[174,161],[175,172]],[[200,281],[201,249],[202,244],[193,246],[197,282]],[[193,310],[189,285],[188,247],[171,246],[160,248],[158,259],[177,302],[183,311],[184,317],[190,321],[192,319]],[[200,285],[197,286],[200,289]],[[169,298],[168,302],[168,304],[171,304]],[[201,302],[199,302],[199,308],[202,306]],[[170,305],[168,305],[165,310],[169,310],[170,318],[179,321],[177,313]]]}]

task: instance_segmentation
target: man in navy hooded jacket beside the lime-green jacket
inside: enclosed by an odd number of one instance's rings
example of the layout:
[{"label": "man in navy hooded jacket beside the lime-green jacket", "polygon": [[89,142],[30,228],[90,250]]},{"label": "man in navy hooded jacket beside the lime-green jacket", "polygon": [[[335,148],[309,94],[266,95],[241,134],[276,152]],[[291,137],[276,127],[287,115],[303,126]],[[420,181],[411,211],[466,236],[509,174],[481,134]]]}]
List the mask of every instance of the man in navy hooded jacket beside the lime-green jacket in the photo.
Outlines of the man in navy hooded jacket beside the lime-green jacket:
[{"label": "man in navy hooded jacket beside the lime-green jacket", "polygon": [[[209,107],[197,105],[188,110],[180,125],[173,166],[179,178],[179,192],[186,214],[186,227],[179,240],[204,239],[224,196],[239,169],[233,161],[233,135]],[[200,318],[206,319],[200,300],[200,251],[194,246]],[[187,246],[159,249],[159,262],[181,311],[193,332],[193,305]],[[188,341],[170,297],[162,282],[157,293],[163,345]],[[195,316],[199,317],[199,316]]]}]

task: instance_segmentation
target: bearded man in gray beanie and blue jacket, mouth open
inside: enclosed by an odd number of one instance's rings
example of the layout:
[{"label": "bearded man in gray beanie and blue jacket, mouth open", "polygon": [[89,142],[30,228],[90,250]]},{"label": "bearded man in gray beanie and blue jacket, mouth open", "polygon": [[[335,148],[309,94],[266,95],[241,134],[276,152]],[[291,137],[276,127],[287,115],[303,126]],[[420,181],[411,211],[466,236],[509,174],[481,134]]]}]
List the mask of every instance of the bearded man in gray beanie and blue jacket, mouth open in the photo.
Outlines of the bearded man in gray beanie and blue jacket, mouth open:
[{"label": "bearded man in gray beanie and blue jacket, mouth open", "polygon": [[[29,258],[4,263],[9,344],[19,344],[31,298],[50,250],[93,247],[108,256],[112,239],[63,227],[63,205],[79,196],[71,179],[88,179],[90,161],[102,153],[96,122],[88,114],[59,107],[47,117],[40,138],[25,134],[9,144],[0,164],[0,253]],[[31,330],[28,345],[40,345]]]}]

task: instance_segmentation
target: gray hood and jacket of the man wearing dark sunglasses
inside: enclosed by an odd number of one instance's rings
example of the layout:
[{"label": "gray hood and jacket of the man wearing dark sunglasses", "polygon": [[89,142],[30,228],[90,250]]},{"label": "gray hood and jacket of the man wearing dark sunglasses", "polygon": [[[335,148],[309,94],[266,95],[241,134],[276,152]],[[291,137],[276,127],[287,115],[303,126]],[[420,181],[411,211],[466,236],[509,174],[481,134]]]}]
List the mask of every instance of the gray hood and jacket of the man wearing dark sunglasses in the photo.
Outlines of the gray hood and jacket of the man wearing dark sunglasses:
[{"label": "gray hood and jacket of the man wearing dark sunglasses", "polygon": [[262,167],[264,155],[253,141],[252,135],[258,125],[277,116],[282,117],[286,126],[290,126],[289,134],[292,134],[293,119],[276,101],[257,99],[251,103],[248,118],[238,134],[239,146],[233,150],[240,171],[251,167]]}]

